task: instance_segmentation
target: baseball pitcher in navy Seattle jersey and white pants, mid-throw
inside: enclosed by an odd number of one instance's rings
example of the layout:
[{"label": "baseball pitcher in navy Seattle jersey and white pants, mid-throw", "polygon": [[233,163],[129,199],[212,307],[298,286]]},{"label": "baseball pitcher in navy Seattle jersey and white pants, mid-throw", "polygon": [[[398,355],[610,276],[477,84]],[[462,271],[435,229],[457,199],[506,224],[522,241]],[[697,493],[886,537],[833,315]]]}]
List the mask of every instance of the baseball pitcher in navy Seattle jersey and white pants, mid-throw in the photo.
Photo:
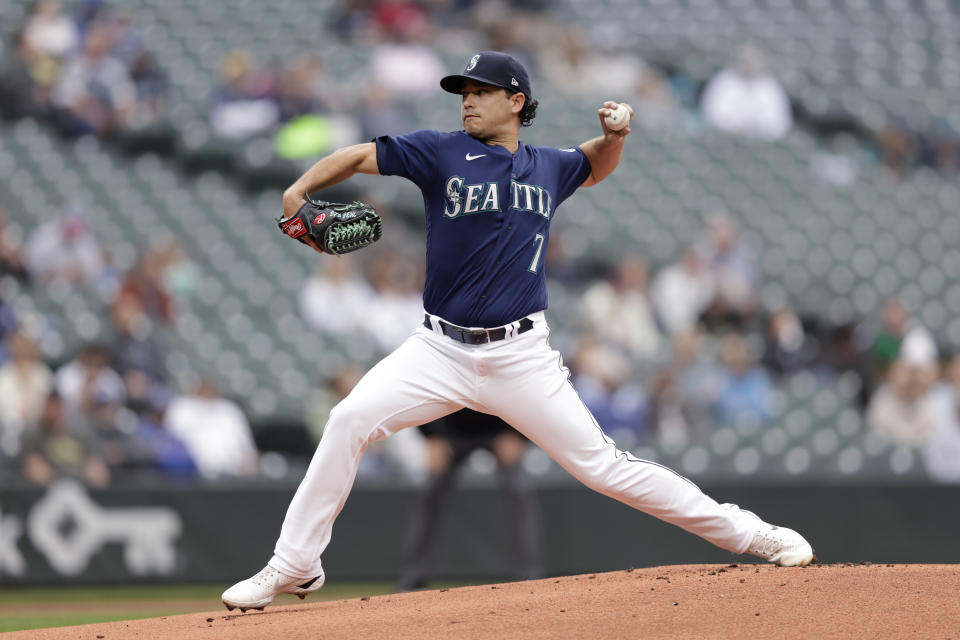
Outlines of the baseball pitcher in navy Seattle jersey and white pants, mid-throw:
[{"label": "baseball pitcher in navy Seattle jersey and white pants, mid-throw", "polygon": [[342,253],[375,241],[379,219],[359,203],[324,208],[306,194],[356,173],[416,184],[426,209],[425,315],[330,412],[273,557],[223,593],[227,608],[263,609],[278,593],[304,597],[319,589],[321,556],[367,446],[462,407],[499,416],[591,489],[719,547],[780,565],[811,562],[813,550],[797,532],[719,504],[670,469],[618,449],[550,346],[550,222],[577,188],[599,184],[616,168],[630,134],[629,106],[604,102],[601,135],[578,147],[534,147],[519,134],[537,101],[513,57],[482,51],[440,85],[460,96],[462,130],[382,136],[340,149],[284,193],[281,228],[321,253]]}]

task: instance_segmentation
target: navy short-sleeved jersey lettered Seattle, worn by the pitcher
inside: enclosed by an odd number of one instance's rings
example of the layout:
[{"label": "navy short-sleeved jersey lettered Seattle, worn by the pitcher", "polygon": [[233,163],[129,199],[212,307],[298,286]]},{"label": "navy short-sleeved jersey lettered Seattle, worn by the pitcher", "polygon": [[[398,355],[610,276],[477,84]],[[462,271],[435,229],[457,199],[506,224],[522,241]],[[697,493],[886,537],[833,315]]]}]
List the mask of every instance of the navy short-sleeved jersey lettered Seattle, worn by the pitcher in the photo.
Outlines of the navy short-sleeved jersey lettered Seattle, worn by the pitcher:
[{"label": "navy short-sleeved jersey lettered Seattle, worn by the pitcher", "polygon": [[464,131],[376,139],[382,175],[420,187],[427,217],[423,306],[463,327],[546,309],[544,259],[557,206],[590,175],[579,148],[516,153]]}]

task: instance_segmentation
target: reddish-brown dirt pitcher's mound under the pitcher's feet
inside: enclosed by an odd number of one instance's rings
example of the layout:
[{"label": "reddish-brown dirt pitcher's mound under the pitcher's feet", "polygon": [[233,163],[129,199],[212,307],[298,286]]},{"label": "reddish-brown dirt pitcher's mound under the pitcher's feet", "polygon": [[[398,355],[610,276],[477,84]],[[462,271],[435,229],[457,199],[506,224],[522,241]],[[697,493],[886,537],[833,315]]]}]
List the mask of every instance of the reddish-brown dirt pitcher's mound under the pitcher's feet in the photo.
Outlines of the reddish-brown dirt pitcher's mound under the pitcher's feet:
[{"label": "reddish-brown dirt pitcher's mound under the pitcher's feet", "polygon": [[958,593],[960,565],[684,565],[4,637],[945,639],[960,638]]}]

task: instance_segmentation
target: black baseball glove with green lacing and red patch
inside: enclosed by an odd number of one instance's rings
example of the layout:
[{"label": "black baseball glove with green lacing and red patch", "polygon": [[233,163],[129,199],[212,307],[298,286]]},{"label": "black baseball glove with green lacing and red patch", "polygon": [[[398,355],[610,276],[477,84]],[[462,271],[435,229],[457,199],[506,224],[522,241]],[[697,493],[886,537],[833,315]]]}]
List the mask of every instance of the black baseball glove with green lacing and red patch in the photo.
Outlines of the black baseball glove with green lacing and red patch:
[{"label": "black baseball glove with green lacing and red patch", "polygon": [[324,253],[340,255],[363,249],[380,239],[383,221],[369,204],[324,202],[309,194],[300,210],[289,218],[278,218],[280,230],[304,244],[313,238]]}]

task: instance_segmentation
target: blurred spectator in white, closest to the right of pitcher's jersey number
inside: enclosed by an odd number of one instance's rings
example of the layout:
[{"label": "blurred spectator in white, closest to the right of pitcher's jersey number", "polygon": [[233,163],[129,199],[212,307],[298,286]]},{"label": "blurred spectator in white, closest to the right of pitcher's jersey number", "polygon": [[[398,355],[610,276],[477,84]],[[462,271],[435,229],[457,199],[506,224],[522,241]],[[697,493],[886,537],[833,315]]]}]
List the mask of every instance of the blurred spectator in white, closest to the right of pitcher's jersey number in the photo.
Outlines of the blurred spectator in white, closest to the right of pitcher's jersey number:
[{"label": "blurred spectator in white, closest to the right of pitcher's jersey number", "polygon": [[580,300],[580,317],[586,330],[636,358],[653,355],[660,345],[660,333],[647,300],[648,277],[646,260],[639,254],[626,255]]}]

